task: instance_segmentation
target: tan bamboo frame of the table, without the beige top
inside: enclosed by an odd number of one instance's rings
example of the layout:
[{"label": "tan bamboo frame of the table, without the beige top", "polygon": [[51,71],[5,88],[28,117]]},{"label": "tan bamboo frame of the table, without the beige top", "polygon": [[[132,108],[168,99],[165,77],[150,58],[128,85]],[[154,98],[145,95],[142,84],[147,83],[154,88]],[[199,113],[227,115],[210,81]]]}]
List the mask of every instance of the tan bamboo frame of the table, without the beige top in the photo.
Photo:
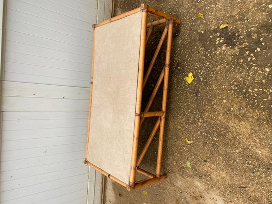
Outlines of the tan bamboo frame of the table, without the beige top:
[{"label": "tan bamboo frame of the table, without the beige top", "polygon": [[[94,52],[92,55],[92,72],[91,72],[91,86],[90,86],[90,105],[89,105],[89,119],[88,119],[88,131],[87,131],[87,140],[86,140],[86,155],[84,164],[89,165],[90,167],[94,168],[95,170],[101,172],[105,176],[109,177],[110,179],[114,180],[115,182],[121,184],[122,186],[127,187],[128,191],[133,189],[138,189],[140,187],[158,182],[163,180],[167,177],[166,174],[161,175],[161,160],[162,160],[162,147],[163,147],[163,134],[164,134],[164,123],[165,123],[165,113],[166,113],[166,100],[167,100],[167,89],[168,89],[168,76],[169,76],[169,67],[170,67],[170,52],[171,52],[171,42],[172,42],[172,31],[173,31],[173,24],[174,22],[179,24],[180,20],[176,17],[168,15],[164,12],[158,11],[150,6],[142,4],[140,8],[134,9],[132,11],[123,13],[121,15],[115,16],[109,20],[104,22],[94,24],[93,25],[93,38],[95,39],[95,28],[105,25],[107,23],[119,20],[121,18],[128,17],[132,14],[137,12],[142,12],[142,19],[141,19],[141,36],[140,36],[140,54],[139,54],[139,68],[138,68],[138,82],[137,82],[137,95],[136,95],[136,110],[135,110],[135,122],[134,122],[134,134],[133,134],[133,144],[132,144],[132,158],[131,158],[131,170],[130,170],[130,177],[129,177],[129,184],[126,184],[120,180],[118,180],[113,175],[110,175],[103,169],[93,165],[87,160],[88,156],[88,144],[89,144],[89,135],[90,135],[90,117],[91,117],[91,107],[92,107],[92,90],[93,90],[93,67],[94,67]],[[156,17],[157,20],[147,23],[150,16]],[[152,61],[147,69],[147,72],[144,75],[144,56],[145,56],[145,47],[146,43],[150,40],[153,29],[155,26],[165,24],[165,29],[162,33],[158,46],[156,48],[155,54],[152,58]],[[148,31],[147,31],[148,29]],[[147,34],[146,34],[147,31]],[[142,100],[142,90],[149,78],[151,70],[154,66],[154,63],[158,57],[159,51],[161,49],[162,43],[167,36],[167,46],[166,46],[166,58],[165,64],[163,66],[162,72],[160,77],[157,81],[157,84],[154,87],[153,93],[145,107],[144,111],[141,112],[141,100]],[[93,49],[94,49],[94,39],[93,39]],[[149,112],[149,109],[153,103],[155,95],[158,92],[158,89],[163,82],[163,96],[162,96],[162,108],[160,111],[156,112]],[[147,140],[139,158],[137,159],[137,151],[138,151],[138,137],[139,131],[143,124],[143,121],[146,117],[158,117],[157,122]],[[141,168],[139,165],[149,148],[151,141],[153,140],[157,130],[159,129],[159,144],[158,144],[158,155],[157,155],[157,166],[156,166],[156,174],[147,172]],[[141,181],[136,181],[136,172],[148,177],[149,179],[144,179]]]}]

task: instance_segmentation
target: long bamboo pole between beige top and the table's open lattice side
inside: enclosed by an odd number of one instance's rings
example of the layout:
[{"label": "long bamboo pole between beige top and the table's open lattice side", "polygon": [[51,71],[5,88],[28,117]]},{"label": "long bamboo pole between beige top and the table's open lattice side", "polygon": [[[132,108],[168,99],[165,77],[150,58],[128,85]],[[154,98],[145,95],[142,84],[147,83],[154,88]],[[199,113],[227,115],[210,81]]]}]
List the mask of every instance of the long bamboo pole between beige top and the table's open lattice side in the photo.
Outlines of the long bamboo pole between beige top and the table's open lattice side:
[{"label": "long bamboo pole between beige top and the table's open lattice side", "polygon": [[135,113],[135,122],[134,122],[131,170],[130,170],[130,180],[129,180],[130,187],[134,187],[134,185],[135,185],[138,138],[139,138],[139,131],[140,131],[142,89],[143,89],[142,81],[143,81],[143,70],[144,70],[146,23],[147,23],[147,10],[145,9],[145,10],[142,10],[139,73],[138,73],[138,83],[137,83],[137,93],[136,93],[137,94],[136,95],[136,109],[135,109],[136,113]]}]

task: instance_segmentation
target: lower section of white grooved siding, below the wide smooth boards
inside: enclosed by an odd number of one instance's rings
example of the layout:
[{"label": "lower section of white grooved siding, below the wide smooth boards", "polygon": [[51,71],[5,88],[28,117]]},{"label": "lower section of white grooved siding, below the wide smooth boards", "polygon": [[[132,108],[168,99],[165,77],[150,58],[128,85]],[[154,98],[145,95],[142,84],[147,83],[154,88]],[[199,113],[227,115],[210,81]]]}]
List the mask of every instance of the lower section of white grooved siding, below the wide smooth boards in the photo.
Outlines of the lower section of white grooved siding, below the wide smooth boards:
[{"label": "lower section of white grooved siding, below the wide smooth boards", "polygon": [[54,192],[82,189],[86,200],[86,124],[87,112],[4,112],[1,203],[58,200]]}]

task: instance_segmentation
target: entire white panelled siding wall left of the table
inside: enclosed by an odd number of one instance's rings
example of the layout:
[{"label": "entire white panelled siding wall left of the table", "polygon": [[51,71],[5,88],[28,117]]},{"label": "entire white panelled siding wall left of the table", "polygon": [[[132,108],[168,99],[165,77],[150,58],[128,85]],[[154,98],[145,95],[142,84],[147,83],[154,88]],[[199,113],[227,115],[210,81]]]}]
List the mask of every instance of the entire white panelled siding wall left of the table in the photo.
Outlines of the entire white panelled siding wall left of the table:
[{"label": "entire white panelled siding wall left of the table", "polygon": [[86,203],[96,10],[97,0],[7,0],[1,204]]}]

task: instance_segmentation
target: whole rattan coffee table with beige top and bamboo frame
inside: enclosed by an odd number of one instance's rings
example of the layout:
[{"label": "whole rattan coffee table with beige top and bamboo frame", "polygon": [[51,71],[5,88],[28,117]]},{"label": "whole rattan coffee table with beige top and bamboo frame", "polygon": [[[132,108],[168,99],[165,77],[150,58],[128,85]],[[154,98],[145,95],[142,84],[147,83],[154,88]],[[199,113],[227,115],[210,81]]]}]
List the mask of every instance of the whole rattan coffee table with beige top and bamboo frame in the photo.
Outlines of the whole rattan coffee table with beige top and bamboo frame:
[{"label": "whole rattan coffee table with beige top and bamboo frame", "polygon": [[[174,23],[179,24],[180,20],[142,4],[140,8],[93,25],[90,106],[84,163],[127,187],[129,191],[167,177],[161,175],[161,160]],[[165,28],[144,75],[146,43],[154,27],[161,24]],[[143,88],[166,35],[165,64],[162,65],[147,106],[141,111]],[[162,81],[161,110],[149,112]],[[139,131],[146,117],[158,119],[137,158]],[[156,173],[150,173],[139,165],[158,129]],[[147,178],[136,181],[137,172]]]}]

